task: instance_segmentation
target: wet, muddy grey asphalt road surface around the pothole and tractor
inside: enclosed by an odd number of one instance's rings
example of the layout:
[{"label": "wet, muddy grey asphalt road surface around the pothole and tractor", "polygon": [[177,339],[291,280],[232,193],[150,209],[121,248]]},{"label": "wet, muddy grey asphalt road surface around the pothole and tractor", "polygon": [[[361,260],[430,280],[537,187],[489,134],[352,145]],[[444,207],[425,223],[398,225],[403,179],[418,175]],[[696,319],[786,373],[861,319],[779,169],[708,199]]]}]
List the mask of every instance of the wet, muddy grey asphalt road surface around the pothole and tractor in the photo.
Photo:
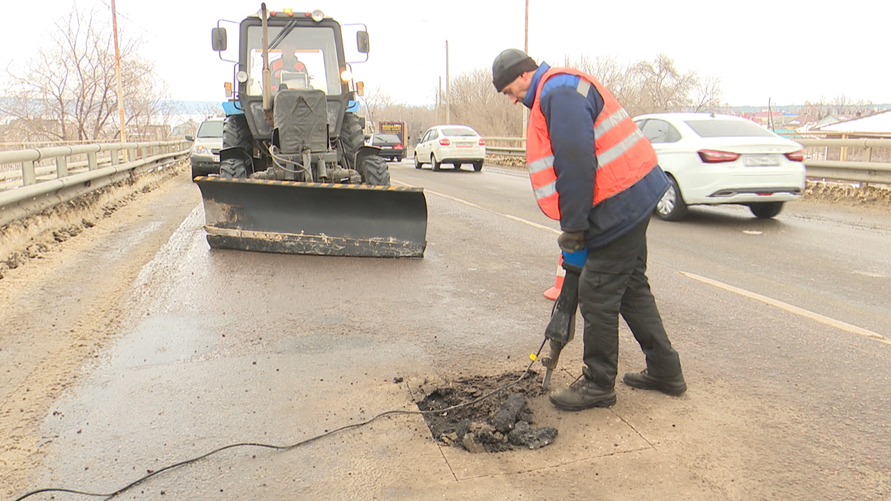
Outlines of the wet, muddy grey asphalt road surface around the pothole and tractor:
[{"label": "wet, muddy grey asphalt road surface around the pothole and tractor", "polygon": [[[421,390],[524,369],[557,224],[524,172],[390,164],[425,188],[423,259],[211,250],[185,169],[0,280],[0,494],[109,493],[238,442],[291,445]],[[887,499],[891,218],[799,202],[653,220],[650,283],[689,390],[617,383],[537,450],[439,447],[387,415],[297,448],[227,449],[126,499]],[[581,368],[581,334],[552,385]],[[534,365],[540,368],[540,365]],[[643,357],[621,324],[619,373]],[[52,496],[52,497],[51,497]],[[84,499],[43,493],[29,499]]]}]

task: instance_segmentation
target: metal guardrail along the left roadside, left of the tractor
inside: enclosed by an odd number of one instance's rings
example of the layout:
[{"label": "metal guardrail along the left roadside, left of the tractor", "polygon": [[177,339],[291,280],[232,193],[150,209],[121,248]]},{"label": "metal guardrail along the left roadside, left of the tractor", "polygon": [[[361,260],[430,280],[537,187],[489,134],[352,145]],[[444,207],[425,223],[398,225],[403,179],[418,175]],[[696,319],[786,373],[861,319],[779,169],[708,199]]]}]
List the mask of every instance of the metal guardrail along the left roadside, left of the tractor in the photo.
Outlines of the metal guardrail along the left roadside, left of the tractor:
[{"label": "metal guardrail along the left roadside, left of the tractor", "polygon": [[191,144],[79,144],[0,152],[0,226],[182,160]]}]

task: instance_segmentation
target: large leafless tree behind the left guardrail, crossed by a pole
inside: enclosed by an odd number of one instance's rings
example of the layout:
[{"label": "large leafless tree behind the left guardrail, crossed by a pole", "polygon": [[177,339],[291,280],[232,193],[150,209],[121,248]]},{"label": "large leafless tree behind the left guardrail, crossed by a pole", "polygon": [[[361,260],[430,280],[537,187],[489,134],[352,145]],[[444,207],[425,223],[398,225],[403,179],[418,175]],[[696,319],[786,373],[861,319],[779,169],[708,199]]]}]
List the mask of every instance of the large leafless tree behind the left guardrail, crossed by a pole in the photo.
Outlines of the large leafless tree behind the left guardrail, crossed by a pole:
[{"label": "large leafless tree behind the left guardrail, crossed by a pole", "polygon": [[109,22],[96,11],[72,7],[55,22],[51,43],[20,72],[10,72],[12,98],[4,113],[43,140],[94,140],[119,136],[118,99],[126,103],[127,124],[140,136],[159,113],[163,88],[151,62],[137,53],[139,38],[120,37],[123,96],[116,92],[115,53]]}]

